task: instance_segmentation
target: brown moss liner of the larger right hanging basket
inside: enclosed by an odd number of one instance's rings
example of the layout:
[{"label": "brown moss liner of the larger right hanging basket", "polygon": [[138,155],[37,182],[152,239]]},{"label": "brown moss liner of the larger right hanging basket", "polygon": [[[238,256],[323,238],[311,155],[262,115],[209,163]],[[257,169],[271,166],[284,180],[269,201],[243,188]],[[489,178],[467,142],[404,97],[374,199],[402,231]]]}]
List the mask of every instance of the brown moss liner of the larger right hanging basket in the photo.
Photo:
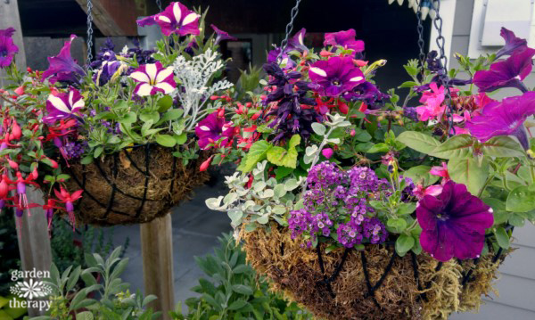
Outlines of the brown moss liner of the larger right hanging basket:
[{"label": "brown moss liner of the larger right hanging basket", "polygon": [[[304,242],[293,241],[290,233],[281,232],[276,226],[269,233],[262,228],[251,233],[242,230],[240,237],[247,259],[259,274],[273,281],[273,290],[283,291],[288,299],[325,320],[448,319],[452,312],[477,310],[481,294],[494,291],[491,281],[497,277],[498,266],[503,261],[502,258],[492,262],[490,254],[480,258],[475,267],[472,261],[459,265],[456,260],[450,260],[438,269],[439,261],[426,254],[417,255],[418,289],[412,256],[396,257],[383,283],[374,291],[375,303],[368,294],[361,252],[357,250],[349,251],[340,274],[331,283],[333,298],[321,283],[325,278],[317,251],[304,249],[301,246]],[[382,278],[392,250],[383,245],[366,246],[366,269],[372,286]],[[343,252],[322,254],[327,277],[333,275]],[[464,275],[471,269],[471,281],[463,288]]]}]

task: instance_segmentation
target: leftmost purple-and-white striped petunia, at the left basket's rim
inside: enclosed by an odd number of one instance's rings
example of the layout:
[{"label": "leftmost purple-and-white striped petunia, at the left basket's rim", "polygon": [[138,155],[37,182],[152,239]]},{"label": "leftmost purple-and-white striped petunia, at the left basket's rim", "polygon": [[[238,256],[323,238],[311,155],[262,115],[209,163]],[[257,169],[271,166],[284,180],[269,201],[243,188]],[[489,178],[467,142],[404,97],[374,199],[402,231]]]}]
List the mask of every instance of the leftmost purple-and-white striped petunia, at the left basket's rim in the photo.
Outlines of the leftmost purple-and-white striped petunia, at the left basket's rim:
[{"label": "leftmost purple-and-white striped petunia, at the left basket's rim", "polygon": [[43,118],[46,124],[54,124],[62,119],[78,119],[80,111],[86,104],[82,99],[82,94],[73,87],[70,87],[68,93],[48,95],[46,99],[47,115]]}]

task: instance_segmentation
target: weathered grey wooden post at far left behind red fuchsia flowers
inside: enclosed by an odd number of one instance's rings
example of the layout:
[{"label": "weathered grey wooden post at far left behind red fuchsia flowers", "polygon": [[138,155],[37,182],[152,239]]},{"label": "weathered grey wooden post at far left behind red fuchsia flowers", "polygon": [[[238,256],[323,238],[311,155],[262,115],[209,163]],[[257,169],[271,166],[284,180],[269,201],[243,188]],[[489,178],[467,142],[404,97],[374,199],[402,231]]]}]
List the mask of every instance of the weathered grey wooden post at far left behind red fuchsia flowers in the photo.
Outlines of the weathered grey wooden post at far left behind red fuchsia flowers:
[{"label": "weathered grey wooden post at far left behind red fuchsia flowers", "polygon": [[[26,53],[22,38],[21,19],[19,15],[18,0],[0,1],[0,29],[12,27],[15,29],[13,42],[19,47],[15,57],[19,70],[26,69]],[[4,84],[0,74],[0,86]],[[27,188],[29,203],[44,204],[43,193],[32,187]],[[48,225],[45,210],[31,209],[31,216],[25,212],[22,217],[21,229],[17,230],[19,236],[19,251],[21,253],[22,269],[26,271],[50,271],[52,252],[48,238]],[[34,279],[36,280],[36,279]],[[46,299],[46,298],[45,298]],[[46,310],[29,308],[29,316],[41,316]]]}]

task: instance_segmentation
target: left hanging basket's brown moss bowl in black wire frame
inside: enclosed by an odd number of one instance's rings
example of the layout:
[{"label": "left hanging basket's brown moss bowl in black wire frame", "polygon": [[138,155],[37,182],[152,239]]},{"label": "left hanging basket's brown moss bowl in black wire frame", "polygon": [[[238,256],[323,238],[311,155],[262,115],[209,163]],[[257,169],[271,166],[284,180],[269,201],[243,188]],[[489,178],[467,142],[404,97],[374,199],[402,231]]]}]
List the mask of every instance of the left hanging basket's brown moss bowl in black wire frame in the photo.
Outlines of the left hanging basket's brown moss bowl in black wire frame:
[{"label": "left hanging basket's brown moss bowl in black wire frame", "polygon": [[173,150],[143,144],[84,166],[70,165],[70,190],[83,189],[77,221],[98,226],[141,224],[169,213],[208,180],[201,157],[184,166]]}]

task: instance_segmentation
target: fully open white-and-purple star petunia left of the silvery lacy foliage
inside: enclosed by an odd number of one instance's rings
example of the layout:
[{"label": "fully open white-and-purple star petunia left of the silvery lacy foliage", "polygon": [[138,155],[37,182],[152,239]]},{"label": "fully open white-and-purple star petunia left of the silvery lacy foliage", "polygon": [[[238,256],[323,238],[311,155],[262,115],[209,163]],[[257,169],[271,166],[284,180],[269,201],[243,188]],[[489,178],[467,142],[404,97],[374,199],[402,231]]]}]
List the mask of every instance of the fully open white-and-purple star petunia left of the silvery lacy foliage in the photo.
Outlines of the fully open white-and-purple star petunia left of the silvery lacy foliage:
[{"label": "fully open white-and-purple star petunia left of the silvery lacy foliage", "polygon": [[170,94],[177,87],[173,76],[173,67],[163,68],[161,62],[141,65],[130,74],[137,82],[134,93],[140,96]]}]

